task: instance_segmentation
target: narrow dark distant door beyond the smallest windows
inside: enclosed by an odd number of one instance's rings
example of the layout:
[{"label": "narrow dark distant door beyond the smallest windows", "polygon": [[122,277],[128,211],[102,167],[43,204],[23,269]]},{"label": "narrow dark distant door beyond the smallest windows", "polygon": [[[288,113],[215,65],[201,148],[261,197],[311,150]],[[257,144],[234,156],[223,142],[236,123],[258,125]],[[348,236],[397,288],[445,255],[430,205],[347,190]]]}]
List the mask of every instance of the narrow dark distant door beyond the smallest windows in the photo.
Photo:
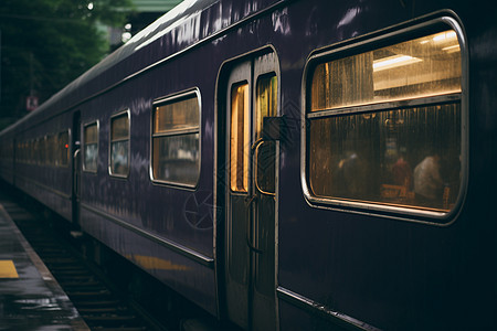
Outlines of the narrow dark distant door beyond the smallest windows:
[{"label": "narrow dark distant door beyond the smallest windows", "polygon": [[80,189],[81,189],[81,114],[74,113],[73,116],[73,135],[71,137],[72,145],[72,168],[73,168],[73,184],[71,192],[72,202],[72,222],[80,223]]}]

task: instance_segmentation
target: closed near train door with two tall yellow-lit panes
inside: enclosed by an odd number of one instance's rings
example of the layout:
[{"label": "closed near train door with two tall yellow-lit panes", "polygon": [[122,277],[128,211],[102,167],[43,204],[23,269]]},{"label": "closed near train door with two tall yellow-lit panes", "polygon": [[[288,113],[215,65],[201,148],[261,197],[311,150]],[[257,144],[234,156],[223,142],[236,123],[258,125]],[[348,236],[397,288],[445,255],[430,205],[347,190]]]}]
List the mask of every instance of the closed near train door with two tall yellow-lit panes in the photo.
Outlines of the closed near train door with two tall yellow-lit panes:
[{"label": "closed near train door with two tall yellow-lit panes", "polygon": [[266,116],[278,115],[274,53],[239,64],[225,90],[226,310],[248,330],[275,330],[277,169],[279,146],[263,141]]}]

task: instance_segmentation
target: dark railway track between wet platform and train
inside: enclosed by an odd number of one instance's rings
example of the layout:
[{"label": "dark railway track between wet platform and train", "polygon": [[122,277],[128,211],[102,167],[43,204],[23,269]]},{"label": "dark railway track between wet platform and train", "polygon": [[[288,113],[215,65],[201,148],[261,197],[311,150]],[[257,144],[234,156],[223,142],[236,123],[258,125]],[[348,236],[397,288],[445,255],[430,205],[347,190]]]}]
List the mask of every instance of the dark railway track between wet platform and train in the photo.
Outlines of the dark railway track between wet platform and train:
[{"label": "dark railway track between wet platform and train", "polygon": [[92,330],[166,330],[113,288],[112,280],[84,258],[70,236],[13,202],[1,203]]}]

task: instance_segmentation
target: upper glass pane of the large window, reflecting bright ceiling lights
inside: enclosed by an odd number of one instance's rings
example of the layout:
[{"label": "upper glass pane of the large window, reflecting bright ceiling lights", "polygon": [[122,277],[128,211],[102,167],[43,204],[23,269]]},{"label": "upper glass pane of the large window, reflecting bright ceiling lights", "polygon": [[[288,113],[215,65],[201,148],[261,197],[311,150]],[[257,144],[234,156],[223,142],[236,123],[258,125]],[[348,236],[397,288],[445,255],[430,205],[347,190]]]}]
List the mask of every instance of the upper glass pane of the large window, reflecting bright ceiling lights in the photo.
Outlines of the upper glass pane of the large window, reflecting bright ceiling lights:
[{"label": "upper glass pane of the large window, reflecting bright ceiling lights", "polygon": [[461,92],[461,50],[445,31],[317,65],[311,111]]}]

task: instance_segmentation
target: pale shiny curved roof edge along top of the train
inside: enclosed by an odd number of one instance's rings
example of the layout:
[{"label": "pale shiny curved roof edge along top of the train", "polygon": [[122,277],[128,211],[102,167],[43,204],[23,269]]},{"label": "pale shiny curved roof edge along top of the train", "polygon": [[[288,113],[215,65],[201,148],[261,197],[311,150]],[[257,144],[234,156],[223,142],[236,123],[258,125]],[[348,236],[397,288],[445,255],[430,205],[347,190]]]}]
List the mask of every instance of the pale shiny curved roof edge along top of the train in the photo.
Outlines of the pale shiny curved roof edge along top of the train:
[{"label": "pale shiny curved roof edge along top of the train", "polygon": [[[184,0],[0,135],[19,128],[33,117],[40,116],[40,120],[43,120],[45,116],[53,116],[53,113],[71,109],[126,77],[146,71],[167,56],[215,35],[276,2],[285,1],[258,0],[244,3],[236,0]],[[139,56],[140,54],[147,55]],[[137,56],[138,64],[121,65],[131,56]],[[113,74],[103,78],[108,71],[113,71]],[[53,111],[45,114],[52,108]]]}]

